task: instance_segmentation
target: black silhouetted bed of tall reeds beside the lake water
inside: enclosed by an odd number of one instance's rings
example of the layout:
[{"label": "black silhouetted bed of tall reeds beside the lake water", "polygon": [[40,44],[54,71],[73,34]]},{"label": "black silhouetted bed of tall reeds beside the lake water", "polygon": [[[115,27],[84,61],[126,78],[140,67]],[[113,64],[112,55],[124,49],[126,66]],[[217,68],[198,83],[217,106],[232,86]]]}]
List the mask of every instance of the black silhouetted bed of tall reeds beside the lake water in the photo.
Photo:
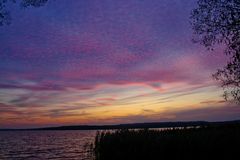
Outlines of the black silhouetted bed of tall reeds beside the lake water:
[{"label": "black silhouetted bed of tall reeds beside the lake water", "polygon": [[240,123],[97,132],[95,160],[236,159]]}]

